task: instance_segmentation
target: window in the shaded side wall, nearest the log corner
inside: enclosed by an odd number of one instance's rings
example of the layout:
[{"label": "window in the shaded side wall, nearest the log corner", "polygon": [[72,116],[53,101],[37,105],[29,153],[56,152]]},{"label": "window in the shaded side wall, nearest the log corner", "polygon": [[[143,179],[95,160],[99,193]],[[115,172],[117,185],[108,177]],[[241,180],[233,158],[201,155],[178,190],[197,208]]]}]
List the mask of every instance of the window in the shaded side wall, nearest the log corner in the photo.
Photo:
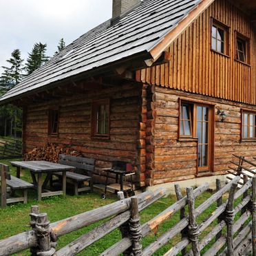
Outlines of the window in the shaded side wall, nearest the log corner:
[{"label": "window in the shaded side wall, nearest the log corner", "polygon": [[109,100],[92,103],[92,137],[109,138]]}]

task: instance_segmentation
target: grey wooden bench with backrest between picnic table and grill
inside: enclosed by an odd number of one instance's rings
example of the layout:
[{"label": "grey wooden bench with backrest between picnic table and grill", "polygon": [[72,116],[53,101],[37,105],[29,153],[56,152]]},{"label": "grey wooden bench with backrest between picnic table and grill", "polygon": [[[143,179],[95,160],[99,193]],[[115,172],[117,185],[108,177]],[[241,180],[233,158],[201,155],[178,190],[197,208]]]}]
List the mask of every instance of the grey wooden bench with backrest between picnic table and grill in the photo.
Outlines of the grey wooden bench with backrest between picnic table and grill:
[{"label": "grey wooden bench with backrest between picnic table and grill", "polygon": [[[70,167],[76,167],[76,172],[67,171],[67,183],[74,185],[74,194],[79,192],[93,191],[93,173],[95,160],[91,158],[81,158],[76,156],[67,156],[61,154],[58,160],[59,164],[65,164]],[[86,171],[89,175],[78,173],[78,171]],[[54,173],[57,177],[61,177],[62,173]],[[89,182],[89,186],[81,186],[84,182]]]}]

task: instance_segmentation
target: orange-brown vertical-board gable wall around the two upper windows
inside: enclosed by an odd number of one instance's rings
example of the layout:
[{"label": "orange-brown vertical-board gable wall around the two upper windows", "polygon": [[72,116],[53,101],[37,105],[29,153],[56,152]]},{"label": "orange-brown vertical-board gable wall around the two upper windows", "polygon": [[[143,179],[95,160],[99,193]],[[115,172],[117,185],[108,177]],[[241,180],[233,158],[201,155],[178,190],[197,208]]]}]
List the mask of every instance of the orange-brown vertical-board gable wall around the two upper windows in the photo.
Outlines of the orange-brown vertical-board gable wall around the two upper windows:
[{"label": "orange-brown vertical-board gable wall around the two upper windows", "polygon": [[[229,56],[211,50],[211,17],[230,27]],[[235,31],[250,39],[250,65],[235,61]],[[256,104],[256,34],[250,19],[216,0],[167,49],[171,61],[139,70],[137,81],[241,103]]]}]

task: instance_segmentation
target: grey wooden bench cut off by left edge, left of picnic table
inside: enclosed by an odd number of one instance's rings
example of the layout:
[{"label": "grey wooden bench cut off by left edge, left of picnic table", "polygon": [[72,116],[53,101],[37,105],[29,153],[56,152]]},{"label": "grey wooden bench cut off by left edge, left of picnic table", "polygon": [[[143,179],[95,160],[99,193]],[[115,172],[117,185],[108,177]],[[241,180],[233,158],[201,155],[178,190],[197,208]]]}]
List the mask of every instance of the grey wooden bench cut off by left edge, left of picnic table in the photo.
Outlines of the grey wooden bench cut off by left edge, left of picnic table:
[{"label": "grey wooden bench cut off by left edge, left of picnic table", "polygon": [[[6,164],[0,164],[1,173],[1,207],[6,207],[6,204],[14,202],[28,203],[28,189],[34,187],[33,184],[26,182],[10,175],[9,167]],[[23,191],[23,197],[7,198],[7,193],[15,193],[15,191]]]}]

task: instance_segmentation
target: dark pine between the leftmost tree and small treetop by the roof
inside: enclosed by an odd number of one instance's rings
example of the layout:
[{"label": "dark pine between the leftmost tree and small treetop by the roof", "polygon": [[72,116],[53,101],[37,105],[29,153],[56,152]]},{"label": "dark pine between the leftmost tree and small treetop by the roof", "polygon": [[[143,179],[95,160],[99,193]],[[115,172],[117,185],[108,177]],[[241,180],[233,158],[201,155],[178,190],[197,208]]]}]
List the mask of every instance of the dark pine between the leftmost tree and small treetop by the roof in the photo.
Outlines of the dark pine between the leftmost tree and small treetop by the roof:
[{"label": "dark pine between the leftmost tree and small treetop by the roof", "polygon": [[49,60],[49,57],[46,55],[46,47],[46,43],[34,44],[32,52],[28,54],[27,63],[25,63],[25,69],[28,75],[34,72],[34,70],[37,70]]}]

